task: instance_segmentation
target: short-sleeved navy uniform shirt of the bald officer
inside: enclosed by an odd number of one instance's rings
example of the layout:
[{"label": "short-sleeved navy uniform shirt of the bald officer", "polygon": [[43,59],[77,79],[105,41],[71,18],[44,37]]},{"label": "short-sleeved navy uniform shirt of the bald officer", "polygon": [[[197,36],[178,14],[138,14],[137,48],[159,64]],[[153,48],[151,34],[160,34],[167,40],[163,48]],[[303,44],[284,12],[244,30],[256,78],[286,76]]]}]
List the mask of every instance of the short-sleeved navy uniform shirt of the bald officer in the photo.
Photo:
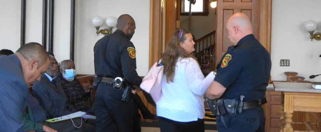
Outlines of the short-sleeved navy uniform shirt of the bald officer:
[{"label": "short-sleeved navy uniform shirt of the bald officer", "polygon": [[227,88],[221,98],[239,99],[244,95],[244,101],[261,100],[265,98],[270,71],[270,54],[250,34],[228,48],[214,80]]}]

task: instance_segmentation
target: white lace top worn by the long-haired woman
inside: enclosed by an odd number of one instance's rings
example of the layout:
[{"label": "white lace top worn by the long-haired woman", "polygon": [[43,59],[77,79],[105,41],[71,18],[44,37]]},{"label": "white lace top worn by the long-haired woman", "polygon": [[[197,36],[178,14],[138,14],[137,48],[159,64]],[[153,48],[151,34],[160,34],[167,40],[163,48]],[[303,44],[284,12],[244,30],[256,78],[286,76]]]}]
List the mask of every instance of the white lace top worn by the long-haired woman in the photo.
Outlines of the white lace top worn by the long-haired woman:
[{"label": "white lace top worn by the long-haired woman", "polygon": [[156,103],[157,116],[180,122],[203,119],[204,94],[214,78],[213,72],[204,78],[195,59],[178,58],[174,81],[167,83],[163,75],[163,96]]}]

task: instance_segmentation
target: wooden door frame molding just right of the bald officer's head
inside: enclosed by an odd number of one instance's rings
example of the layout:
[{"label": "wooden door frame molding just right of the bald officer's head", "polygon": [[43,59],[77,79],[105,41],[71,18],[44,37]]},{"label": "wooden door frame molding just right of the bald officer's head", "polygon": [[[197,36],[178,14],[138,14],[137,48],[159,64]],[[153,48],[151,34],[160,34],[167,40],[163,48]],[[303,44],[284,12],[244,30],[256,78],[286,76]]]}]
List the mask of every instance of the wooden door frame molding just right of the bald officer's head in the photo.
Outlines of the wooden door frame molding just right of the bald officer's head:
[{"label": "wooden door frame molding just right of the bald officer's head", "polygon": [[259,41],[271,54],[272,0],[260,1]]}]

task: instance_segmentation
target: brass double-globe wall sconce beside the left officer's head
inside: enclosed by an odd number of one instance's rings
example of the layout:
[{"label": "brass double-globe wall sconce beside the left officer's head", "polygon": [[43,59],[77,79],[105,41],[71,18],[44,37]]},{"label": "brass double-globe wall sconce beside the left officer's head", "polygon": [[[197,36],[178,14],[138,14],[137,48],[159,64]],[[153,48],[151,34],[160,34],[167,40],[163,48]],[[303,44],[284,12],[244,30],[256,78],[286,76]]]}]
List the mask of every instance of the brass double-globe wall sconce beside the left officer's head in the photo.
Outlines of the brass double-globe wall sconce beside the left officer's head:
[{"label": "brass double-globe wall sconce beside the left officer's head", "polygon": [[93,17],[91,22],[92,22],[92,25],[94,25],[95,28],[96,28],[97,36],[100,33],[106,36],[108,34],[112,34],[113,28],[116,27],[116,24],[117,24],[117,18],[112,17],[112,16],[111,17],[107,17],[106,18],[106,25],[107,25],[108,28],[100,29],[100,30],[99,30],[99,28],[103,23],[103,19],[100,16]]}]

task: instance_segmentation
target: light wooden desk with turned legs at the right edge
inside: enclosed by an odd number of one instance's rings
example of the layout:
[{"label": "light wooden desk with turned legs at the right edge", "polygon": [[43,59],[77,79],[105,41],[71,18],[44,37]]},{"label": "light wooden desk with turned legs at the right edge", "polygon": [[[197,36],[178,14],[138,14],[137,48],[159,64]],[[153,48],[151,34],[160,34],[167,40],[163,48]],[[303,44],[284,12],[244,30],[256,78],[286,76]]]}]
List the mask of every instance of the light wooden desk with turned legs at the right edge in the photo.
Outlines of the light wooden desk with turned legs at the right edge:
[{"label": "light wooden desk with turned legs at the right edge", "polygon": [[[313,89],[311,83],[275,82],[273,85],[275,91],[284,94],[283,132],[293,132],[293,111],[321,112],[321,90]],[[320,120],[316,125],[320,128]]]}]

